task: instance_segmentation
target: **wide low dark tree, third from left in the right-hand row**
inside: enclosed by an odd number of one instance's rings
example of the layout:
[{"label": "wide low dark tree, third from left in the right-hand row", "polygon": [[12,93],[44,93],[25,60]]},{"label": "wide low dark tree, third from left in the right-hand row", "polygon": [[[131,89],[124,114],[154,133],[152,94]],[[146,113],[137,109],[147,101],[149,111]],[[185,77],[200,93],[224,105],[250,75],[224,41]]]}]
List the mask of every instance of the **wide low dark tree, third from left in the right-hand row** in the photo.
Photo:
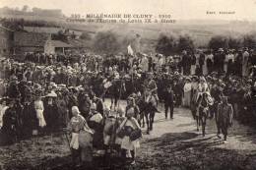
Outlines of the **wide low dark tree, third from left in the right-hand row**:
[{"label": "wide low dark tree, third from left in the right-hand row", "polygon": [[227,48],[228,40],[222,35],[213,36],[208,44],[209,48],[217,51],[219,48]]}]

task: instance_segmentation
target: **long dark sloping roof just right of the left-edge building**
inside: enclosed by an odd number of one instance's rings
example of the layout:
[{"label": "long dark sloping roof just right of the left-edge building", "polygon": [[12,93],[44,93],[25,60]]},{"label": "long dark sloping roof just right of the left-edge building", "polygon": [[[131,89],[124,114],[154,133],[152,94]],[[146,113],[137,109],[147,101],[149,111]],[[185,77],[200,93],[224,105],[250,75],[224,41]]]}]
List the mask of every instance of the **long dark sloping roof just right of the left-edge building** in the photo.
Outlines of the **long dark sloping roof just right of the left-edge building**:
[{"label": "long dark sloping roof just right of the left-edge building", "polygon": [[14,32],[14,44],[15,46],[27,47],[44,46],[48,37],[49,34],[47,33],[16,31]]}]

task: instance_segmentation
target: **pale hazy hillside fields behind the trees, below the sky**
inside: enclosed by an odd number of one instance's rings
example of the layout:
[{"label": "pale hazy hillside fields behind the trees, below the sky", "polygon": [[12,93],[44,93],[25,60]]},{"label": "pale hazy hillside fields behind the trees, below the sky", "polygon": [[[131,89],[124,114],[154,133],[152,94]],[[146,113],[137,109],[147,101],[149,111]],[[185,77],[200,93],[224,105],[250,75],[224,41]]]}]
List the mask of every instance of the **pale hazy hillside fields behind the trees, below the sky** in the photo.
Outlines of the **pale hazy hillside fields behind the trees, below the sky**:
[{"label": "pale hazy hillside fields behind the trees, below the sky", "polygon": [[[0,11],[1,13],[1,11]],[[125,37],[133,37],[136,33],[141,35],[143,51],[154,51],[160,33],[172,34],[179,36],[189,34],[194,40],[195,45],[207,46],[212,36],[223,34],[225,36],[239,37],[254,31],[255,23],[246,21],[177,21],[176,24],[78,24],[67,22],[64,15],[47,16],[25,14],[4,14],[1,18],[7,19],[24,19],[25,21],[44,21],[52,23],[60,28],[70,28],[74,30],[82,30],[96,35],[96,32],[103,30],[111,30],[115,32],[120,39]]]}]

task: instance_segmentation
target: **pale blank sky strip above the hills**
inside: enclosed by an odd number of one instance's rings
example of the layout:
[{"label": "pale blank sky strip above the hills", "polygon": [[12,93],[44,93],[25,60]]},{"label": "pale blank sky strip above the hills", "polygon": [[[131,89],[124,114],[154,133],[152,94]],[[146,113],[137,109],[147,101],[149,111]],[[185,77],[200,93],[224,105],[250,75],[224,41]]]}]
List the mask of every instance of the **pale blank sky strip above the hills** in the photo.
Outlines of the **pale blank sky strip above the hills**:
[{"label": "pale blank sky strip above the hills", "polygon": [[[29,5],[30,8],[61,9],[71,14],[160,14],[176,20],[247,20],[256,21],[256,0],[0,0],[0,7]],[[207,11],[216,12],[207,15]],[[235,12],[220,15],[219,12]]]}]

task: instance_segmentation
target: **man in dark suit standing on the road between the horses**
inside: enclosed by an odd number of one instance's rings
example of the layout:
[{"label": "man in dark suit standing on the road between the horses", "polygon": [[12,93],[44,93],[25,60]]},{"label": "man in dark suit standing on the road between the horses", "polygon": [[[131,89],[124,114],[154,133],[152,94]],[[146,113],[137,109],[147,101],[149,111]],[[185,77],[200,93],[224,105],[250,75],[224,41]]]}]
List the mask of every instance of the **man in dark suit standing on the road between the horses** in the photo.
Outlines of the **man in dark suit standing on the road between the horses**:
[{"label": "man in dark suit standing on the road between the horses", "polygon": [[167,119],[167,113],[169,109],[169,117],[173,119],[173,90],[171,85],[167,86],[165,97],[164,97],[164,108],[165,108],[165,119]]}]

